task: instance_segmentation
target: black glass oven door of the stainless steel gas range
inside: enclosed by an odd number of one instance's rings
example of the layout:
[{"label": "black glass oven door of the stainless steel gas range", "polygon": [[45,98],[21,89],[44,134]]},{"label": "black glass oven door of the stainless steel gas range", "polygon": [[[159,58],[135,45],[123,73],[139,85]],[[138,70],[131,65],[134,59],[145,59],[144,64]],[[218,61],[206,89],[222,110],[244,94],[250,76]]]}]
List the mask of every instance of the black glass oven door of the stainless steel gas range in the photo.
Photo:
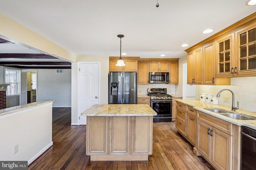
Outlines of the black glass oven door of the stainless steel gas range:
[{"label": "black glass oven door of the stainless steel gas range", "polygon": [[172,121],[172,100],[151,100],[150,106],[157,113],[153,121]]}]

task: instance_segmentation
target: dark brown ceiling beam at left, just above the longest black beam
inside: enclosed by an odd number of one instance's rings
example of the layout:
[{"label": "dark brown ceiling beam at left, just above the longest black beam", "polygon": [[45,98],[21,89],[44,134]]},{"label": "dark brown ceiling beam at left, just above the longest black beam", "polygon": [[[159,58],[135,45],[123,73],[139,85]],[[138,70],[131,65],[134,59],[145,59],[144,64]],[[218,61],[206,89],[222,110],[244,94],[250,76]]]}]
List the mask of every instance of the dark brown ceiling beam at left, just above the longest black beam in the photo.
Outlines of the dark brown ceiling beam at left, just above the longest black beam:
[{"label": "dark brown ceiling beam at left, just above the longest black beam", "polygon": [[20,53],[2,53],[0,58],[17,58],[17,59],[58,59],[47,54],[20,54]]}]

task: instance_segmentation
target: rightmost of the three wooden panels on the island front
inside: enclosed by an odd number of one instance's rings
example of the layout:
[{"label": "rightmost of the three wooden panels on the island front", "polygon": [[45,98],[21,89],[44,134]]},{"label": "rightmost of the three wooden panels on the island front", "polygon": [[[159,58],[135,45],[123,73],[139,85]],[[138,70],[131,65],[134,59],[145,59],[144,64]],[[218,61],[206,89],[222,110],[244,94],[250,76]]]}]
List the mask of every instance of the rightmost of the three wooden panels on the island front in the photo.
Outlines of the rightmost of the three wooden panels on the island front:
[{"label": "rightmost of the three wooden panels on the island front", "polygon": [[131,117],[132,154],[152,154],[153,116]]}]

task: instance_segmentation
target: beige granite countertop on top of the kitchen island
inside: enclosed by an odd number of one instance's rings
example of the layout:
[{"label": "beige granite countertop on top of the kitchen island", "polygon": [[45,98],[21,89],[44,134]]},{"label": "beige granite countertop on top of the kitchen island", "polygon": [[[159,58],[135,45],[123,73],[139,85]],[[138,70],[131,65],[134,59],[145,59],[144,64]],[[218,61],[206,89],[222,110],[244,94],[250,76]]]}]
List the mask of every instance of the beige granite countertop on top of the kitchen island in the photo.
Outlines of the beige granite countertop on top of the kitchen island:
[{"label": "beige granite countertop on top of the kitchen island", "polygon": [[82,116],[154,116],[157,113],[147,104],[96,104]]}]

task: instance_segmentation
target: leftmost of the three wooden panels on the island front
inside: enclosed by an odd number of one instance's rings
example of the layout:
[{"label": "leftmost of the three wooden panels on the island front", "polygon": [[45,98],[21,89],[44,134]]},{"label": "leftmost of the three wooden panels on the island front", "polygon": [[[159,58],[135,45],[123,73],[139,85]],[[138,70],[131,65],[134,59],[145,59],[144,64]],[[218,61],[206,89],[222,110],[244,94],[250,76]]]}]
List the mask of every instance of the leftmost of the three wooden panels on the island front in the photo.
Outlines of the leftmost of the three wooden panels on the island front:
[{"label": "leftmost of the three wooden panels on the island front", "polygon": [[108,154],[108,117],[87,116],[86,154]]}]

